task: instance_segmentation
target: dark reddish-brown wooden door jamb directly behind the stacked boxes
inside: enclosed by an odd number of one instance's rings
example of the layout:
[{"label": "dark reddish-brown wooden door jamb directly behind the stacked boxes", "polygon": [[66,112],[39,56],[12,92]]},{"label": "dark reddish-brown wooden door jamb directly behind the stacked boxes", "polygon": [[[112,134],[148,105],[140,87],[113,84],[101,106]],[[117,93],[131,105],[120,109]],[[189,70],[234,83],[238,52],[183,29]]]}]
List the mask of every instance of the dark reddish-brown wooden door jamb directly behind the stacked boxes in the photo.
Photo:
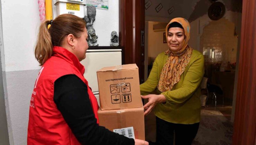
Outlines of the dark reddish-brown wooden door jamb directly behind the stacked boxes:
[{"label": "dark reddish-brown wooden door jamb directly behind the stacked boxes", "polygon": [[119,0],[119,44],[124,47],[124,64],[136,64],[144,82],[145,0]]}]

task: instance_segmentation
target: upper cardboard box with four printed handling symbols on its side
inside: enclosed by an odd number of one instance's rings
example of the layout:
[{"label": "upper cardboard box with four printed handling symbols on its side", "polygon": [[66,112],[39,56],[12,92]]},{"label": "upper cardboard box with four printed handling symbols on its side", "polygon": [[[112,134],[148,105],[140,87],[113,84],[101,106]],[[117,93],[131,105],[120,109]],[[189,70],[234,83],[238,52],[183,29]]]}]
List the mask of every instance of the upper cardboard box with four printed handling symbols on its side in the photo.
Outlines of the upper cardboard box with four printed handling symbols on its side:
[{"label": "upper cardboard box with four printed handling symbols on its side", "polygon": [[136,64],[104,67],[97,71],[103,110],[142,107]]}]

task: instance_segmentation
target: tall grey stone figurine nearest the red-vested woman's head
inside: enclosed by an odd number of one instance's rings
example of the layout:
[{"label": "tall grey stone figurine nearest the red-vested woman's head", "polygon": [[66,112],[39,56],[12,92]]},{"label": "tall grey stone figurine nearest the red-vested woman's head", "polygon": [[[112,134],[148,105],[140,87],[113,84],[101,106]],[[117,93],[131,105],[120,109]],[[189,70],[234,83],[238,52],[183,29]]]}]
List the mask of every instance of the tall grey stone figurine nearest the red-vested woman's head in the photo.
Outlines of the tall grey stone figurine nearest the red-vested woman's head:
[{"label": "tall grey stone figurine nearest the red-vested woman's head", "polygon": [[96,8],[94,6],[87,6],[87,16],[84,16],[84,21],[86,22],[86,29],[88,32],[88,45],[89,46],[99,46],[97,43],[98,35],[95,33],[93,28],[93,22],[95,21]]}]

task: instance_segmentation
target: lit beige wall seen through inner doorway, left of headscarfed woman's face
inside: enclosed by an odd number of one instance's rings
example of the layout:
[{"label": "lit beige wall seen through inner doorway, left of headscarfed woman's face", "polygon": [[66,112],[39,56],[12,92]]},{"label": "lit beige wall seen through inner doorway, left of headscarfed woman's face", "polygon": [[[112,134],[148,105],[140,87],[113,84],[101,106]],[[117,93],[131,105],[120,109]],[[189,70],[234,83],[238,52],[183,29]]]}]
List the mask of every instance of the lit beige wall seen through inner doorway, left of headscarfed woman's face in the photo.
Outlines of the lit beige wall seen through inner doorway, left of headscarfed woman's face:
[{"label": "lit beige wall seen through inner doorway, left of headscarfed woman's face", "polygon": [[155,60],[158,54],[168,49],[167,43],[163,43],[164,31],[153,31],[153,25],[157,23],[159,22],[148,22],[148,57],[152,57],[153,61]]}]

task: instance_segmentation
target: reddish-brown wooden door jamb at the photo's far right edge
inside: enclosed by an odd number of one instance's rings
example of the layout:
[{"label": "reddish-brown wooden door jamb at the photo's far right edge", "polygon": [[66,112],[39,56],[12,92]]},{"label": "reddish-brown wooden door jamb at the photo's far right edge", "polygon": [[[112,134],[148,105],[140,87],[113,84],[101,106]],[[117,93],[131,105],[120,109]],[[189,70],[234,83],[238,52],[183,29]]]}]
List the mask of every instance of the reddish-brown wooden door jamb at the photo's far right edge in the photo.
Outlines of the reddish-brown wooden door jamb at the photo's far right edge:
[{"label": "reddish-brown wooden door jamb at the photo's far right edge", "polygon": [[256,144],[255,7],[255,0],[243,0],[233,145]]}]

